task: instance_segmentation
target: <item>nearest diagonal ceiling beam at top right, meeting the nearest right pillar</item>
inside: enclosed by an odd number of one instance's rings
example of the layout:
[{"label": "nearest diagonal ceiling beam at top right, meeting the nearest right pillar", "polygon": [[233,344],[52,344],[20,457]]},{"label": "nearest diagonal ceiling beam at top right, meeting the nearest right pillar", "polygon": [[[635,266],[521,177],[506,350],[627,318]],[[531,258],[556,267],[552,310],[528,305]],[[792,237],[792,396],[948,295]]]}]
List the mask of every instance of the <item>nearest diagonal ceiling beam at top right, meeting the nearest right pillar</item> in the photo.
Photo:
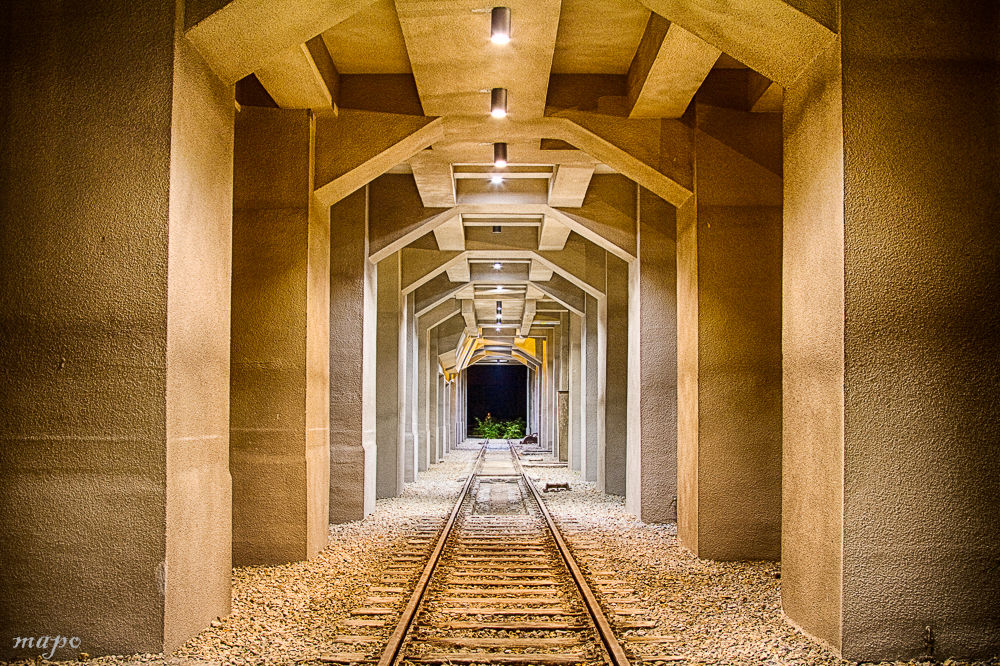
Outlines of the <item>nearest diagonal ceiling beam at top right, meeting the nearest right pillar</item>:
[{"label": "nearest diagonal ceiling beam at top right, meeting the nearest right pillar", "polygon": [[724,7],[718,0],[640,1],[783,86],[791,85],[836,37],[784,0],[727,0]]}]

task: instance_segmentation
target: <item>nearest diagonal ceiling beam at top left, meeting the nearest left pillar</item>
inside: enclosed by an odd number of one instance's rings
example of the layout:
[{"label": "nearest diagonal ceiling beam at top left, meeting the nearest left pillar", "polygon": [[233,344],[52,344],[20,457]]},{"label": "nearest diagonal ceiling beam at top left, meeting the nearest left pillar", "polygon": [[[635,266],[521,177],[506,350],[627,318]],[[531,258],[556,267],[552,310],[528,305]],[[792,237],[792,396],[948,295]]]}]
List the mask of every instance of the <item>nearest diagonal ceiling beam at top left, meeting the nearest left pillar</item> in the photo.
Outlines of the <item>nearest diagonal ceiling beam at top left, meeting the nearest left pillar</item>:
[{"label": "nearest diagonal ceiling beam at top left, meeting the nearest left pillar", "polygon": [[304,44],[375,0],[232,0],[185,35],[223,83],[232,85],[272,55]]}]

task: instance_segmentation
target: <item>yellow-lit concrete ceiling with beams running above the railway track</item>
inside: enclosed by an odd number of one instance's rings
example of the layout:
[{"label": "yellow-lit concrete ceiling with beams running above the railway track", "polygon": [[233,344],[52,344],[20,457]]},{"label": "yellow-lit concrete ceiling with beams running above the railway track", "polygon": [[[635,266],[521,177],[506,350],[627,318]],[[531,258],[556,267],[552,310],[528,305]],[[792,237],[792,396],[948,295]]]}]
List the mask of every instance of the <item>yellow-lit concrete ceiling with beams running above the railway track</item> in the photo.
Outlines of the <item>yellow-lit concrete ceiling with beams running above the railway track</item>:
[{"label": "yellow-lit concrete ceiling with beams running above the railway track", "polygon": [[[746,102],[746,111],[781,111],[781,87],[718,48],[718,40],[702,29],[701,14],[691,10],[685,25],[717,43],[704,42],[669,17],[650,11],[653,7],[686,20],[687,10],[679,0],[504,0],[512,18],[507,45],[489,39],[493,3],[352,1],[353,13],[337,14],[333,25],[318,37],[299,47],[283,47],[255,71],[281,106],[411,115],[413,108],[422,107],[425,116],[444,118],[442,130],[427,149],[381,168],[412,174],[425,208],[472,206],[477,211],[456,214],[433,230],[440,251],[480,248],[475,261],[463,259],[447,266],[452,282],[469,286],[463,301],[468,333],[489,327],[489,334],[496,335],[498,298],[493,292],[497,281],[490,278],[492,260],[505,260],[514,251],[562,252],[570,234],[568,221],[587,217],[581,207],[595,174],[618,171],[669,200],[661,193],[670,192],[669,188],[658,192],[640,179],[644,173],[657,176],[657,166],[650,171],[648,162],[637,163],[635,151],[627,145],[637,132],[659,126],[629,126],[620,141],[602,134],[601,128],[640,122],[629,118],[677,118],[706,85],[712,88],[713,99],[747,97],[743,92],[727,97],[727,86],[750,90],[753,98]],[[738,0],[741,7],[753,2],[775,4],[775,0]],[[789,20],[783,14],[779,18]],[[818,39],[812,23],[796,21],[806,37]],[[720,37],[726,39],[739,44],[738,35]],[[807,42],[802,38],[796,44]],[[747,53],[757,57],[752,49]],[[776,71],[784,72],[780,67]],[[490,90],[496,87],[508,91],[506,119],[490,115]],[[408,90],[416,91],[413,100],[403,99],[413,96]],[[581,125],[581,113],[589,114],[592,122]],[[571,117],[576,124],[566,125],[570,121],[564,119]],[[572,129],[568,134],[566,127]],[[492,141],[504,139],[510,166],[496,169]],[[503,183],[491,180],[496,175],[503,176]],[[682,187],[677,188],[673,191],[683,193]],[[535,208],[525,213],[526,206]],[[573,215],[559,222],[537,212],[539,207],[570,208]],[[487,232],[493,224],[523,227],[521,232],[504,234],[516,240],[510,246],[497,246],[495,257],[482,249],[492,247]],[[579,224],[574,229],[588,232]],[[621,256],[620,248],[613,249]],[[541,315],[540,304],[565,307],[542,300],[548,296],[539,287],[553,276],[545,262],[523,260],[516,267],[523,269],[523,275],[515,280],[510,280],[510,264],[504,271],[514,289],[499,299],[502,322],[511,335],[515,330],[522,335],[537,333],[540,329],[537,325],[533,329],[533,322],[551,325],[552,319]],[[561,284],[570,284],[567,277],[572,281],[572,274],[556,275]],[[463,292],[455,298],[462,301]]]}]

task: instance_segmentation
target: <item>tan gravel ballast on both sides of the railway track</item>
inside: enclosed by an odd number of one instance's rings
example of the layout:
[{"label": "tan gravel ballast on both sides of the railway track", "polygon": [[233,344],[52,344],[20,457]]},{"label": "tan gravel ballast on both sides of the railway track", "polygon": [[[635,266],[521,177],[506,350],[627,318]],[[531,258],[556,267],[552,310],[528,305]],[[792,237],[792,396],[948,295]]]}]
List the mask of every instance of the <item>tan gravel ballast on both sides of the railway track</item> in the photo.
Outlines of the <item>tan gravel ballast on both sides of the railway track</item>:
[{"label": "tan gravel ballast on both sides of the railway track", "polygon": [[[393,553],[427,517],[444,518],[461,489],[476,450],[454,451],[420,474],[397,498],[378,500],[363,521],[330,527],[330,545],[306,562],[233,571],[232,612],[171,655],[145,654],[87,659],[92,664],[308,664],[328,652],[345,631],[339,622],[365,604]],[[528,463],[530,465],[530,463]],[[565,468],[528,467],[540,481],[568,483],[570,490],[543,494],[571,542],[596,543],[582,558],[585,570],[614,571],[634,590],[643,620],[655,629],[632,636],[665,636],[667,642],[633,643],[646,654],[672,655],[661,663],[733,665],[846,665],[828,648],[792,627],[782,615],[780,565],[775,562],[709,562],[677,545],[673,524],[647,525],[625,512],[624,498],[597,492]],[[586,534],[584,534],[586,531]],[[589,547],[588,547],[589,548]],[[605,591],[604,594],[607,594]],[[599,594],[600,596],[600,594]],[[86,650],[86,644],[81,651]],[[69,650],[57,653],[73,657]],[[39,663],[41,659],[17,664]],[[0,662],[2,663],[2,662]],[[57,663],[57,662],[52,662]],[[69,663],[69,662],[63,662]],[[655,662],[654,662],[655,663]],[[896,662],[896,664],[917,662]],[[1000,665],[945,661],[949,666]]]}]

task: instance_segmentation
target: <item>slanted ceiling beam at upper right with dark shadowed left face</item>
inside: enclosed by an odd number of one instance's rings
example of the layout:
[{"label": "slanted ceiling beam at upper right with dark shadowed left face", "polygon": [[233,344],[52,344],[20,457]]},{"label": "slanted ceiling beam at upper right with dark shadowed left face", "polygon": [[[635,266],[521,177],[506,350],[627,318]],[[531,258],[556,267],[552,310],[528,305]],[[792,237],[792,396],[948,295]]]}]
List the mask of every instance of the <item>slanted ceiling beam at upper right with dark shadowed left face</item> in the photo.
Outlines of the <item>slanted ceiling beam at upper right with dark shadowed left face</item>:
[{"label": "slanted ceiling beam at upper right with dark shadowed left face", "polygon": [[720,51],[650,14],[627,75],[629,118],[680,118]]}]

